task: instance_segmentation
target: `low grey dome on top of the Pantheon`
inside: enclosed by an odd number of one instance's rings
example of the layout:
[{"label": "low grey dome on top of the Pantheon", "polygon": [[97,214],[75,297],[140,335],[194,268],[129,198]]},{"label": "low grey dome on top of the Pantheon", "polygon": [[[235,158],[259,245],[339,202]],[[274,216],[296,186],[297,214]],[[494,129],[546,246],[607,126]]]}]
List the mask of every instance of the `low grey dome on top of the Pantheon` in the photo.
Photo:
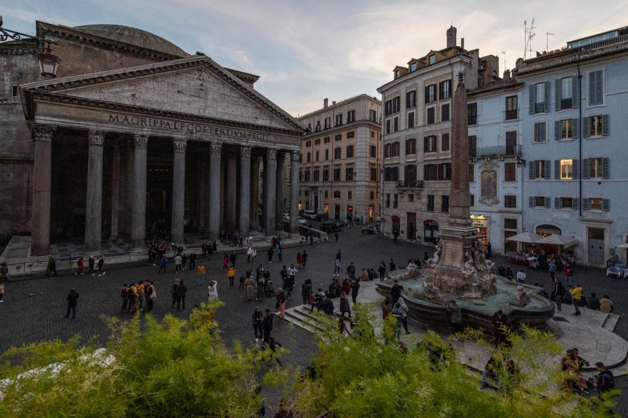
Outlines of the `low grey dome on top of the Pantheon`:
[{"label": "low grey dome on top of the Pantheon", "polygon": [[131,28],[131,26],[122,26],[121,24],[84,24],[75,26],[74,29],[150,50],[181,56],[182,58],[190,56],[190,54],[170,41],[161,38],[161,36],[142,29]]}]

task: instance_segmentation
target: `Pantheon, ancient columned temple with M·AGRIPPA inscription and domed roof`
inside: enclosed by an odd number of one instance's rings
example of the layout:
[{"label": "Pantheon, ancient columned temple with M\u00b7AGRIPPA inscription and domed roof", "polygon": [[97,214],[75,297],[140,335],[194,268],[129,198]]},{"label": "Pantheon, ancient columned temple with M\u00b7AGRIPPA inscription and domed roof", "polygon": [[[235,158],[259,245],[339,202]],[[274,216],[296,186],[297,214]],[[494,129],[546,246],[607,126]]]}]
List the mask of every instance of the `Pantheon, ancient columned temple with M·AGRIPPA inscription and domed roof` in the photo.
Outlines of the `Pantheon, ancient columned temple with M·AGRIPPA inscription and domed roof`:
[{"label": "Pantheon, ancient columned temple with M\u00b7AGRIPPA inscription and domed roof", "polygon": [[286,207],[298,233],[305,126],[255,90],[259,77],[127,26],[36,32],[58,42],[56,78],[39,75],[32,41],[0,44],[2,235],[30,231],[33,258],[77,238],[85,254],[109,238],[139,252],[156,220],[177,243],[274,235]]}]

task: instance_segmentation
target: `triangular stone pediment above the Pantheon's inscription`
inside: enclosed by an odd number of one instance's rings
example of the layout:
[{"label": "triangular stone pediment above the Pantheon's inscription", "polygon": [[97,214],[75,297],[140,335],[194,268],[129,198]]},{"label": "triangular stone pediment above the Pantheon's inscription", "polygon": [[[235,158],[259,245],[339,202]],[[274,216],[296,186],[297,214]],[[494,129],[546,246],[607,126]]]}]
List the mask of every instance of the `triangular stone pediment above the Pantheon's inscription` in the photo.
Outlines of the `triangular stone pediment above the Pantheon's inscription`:
[{"label": "triangular stone pediment above the Pantheon's inscription", "polygon": [[23,88],[140,109],[303,131],[300,122],[205,56],[58,78]]}]

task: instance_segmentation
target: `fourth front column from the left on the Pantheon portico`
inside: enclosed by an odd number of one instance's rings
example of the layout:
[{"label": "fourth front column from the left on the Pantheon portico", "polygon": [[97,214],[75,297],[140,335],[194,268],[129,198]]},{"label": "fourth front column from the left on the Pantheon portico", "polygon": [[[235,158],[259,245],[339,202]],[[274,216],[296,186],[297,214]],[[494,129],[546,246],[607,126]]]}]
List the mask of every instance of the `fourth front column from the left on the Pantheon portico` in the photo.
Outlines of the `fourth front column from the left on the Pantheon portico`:
[{"label": "fourth front column from the left on the Pantheon portico", "polygon": [[172,168],[172,220],[170,240],[183,244],[183,222],[185,222],[185,148],[186,139],[173,139],[174,159]]}]

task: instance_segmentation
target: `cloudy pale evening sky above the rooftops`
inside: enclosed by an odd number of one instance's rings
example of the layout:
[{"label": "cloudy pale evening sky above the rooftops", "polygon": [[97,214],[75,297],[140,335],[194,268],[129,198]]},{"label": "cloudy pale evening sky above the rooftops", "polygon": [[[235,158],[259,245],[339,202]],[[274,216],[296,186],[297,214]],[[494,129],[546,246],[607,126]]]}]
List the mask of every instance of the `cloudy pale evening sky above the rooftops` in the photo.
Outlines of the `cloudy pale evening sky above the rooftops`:
[{"label": "cloudy pale evening sky above the rooftops", "polygon": [[[462,6],[464,4],[464,6]],[[290,114],[377,94],[406,65],[445,47],[450,24],[465,48],[500,58],[500,71],[524,51],[524,19],[534,18],[533,50],[628,24],[628,2],[591,1],[212,1],[20,0],[0,8],[4,27],[35,31],[35,20],[78,26],[111,23],[160,35],[183,50],[203,51],[224,67],[260,75],[256,88]],[[6,6],[6,4],[4,4]]]}]

